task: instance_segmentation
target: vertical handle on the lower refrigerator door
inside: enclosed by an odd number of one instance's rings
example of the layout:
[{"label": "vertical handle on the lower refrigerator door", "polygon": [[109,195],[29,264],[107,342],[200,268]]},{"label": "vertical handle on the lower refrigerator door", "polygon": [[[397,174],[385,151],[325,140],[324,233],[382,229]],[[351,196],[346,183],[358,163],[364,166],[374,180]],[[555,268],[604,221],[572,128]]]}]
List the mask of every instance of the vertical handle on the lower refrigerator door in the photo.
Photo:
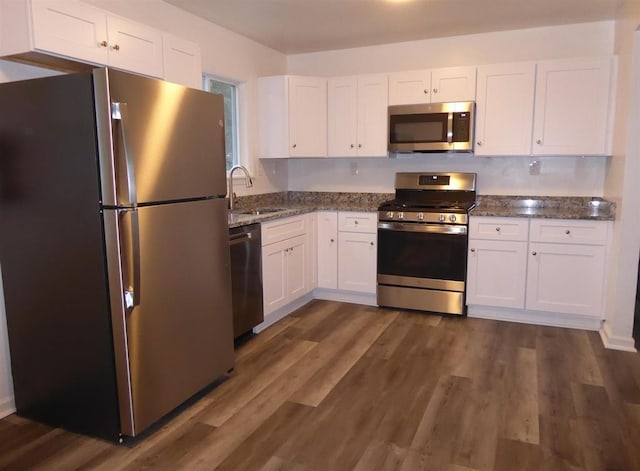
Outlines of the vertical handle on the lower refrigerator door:
[{"label": "vertical handle on the lower refrigerator door", "polygon": [[140,305],[140,223],[137,208],[119,211],[121,227],[124,229],[121,245],[124,303],[127,311],[131,312]]}]

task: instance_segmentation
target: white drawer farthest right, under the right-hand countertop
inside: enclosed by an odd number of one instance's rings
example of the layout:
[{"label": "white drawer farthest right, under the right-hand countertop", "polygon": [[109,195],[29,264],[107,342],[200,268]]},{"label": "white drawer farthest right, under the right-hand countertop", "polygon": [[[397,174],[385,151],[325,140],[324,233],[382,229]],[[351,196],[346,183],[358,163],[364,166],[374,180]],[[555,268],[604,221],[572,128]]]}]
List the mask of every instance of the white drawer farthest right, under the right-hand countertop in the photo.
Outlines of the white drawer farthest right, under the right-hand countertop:
[{"label": "white drawer farthest right, under the right-hand countertop", "polygon": [[574,219],[533,219],[529,232],[531,242],[606,245],[609,223]]}]

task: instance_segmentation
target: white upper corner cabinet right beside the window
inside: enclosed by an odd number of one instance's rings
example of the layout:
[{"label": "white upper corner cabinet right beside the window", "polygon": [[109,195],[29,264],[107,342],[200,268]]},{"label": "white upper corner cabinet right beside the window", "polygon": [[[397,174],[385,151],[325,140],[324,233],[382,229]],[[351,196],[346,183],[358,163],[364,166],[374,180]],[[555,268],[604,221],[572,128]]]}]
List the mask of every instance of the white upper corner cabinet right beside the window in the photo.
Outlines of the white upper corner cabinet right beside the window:
[{"label": "white upper corner cabinet right beside the window", "polygon": [[259,157],[327,156],[327,80],[258,79]]}]

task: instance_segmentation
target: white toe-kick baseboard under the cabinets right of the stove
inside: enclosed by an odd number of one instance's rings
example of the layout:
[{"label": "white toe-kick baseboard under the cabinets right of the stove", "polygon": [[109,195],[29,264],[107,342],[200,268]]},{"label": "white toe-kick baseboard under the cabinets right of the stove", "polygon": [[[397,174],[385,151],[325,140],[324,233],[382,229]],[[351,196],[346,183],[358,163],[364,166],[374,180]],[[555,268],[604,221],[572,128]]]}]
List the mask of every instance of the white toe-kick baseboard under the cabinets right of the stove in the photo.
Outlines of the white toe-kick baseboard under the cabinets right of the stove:
[{"label": "white toe-kick baseboard under the cabinets right of the stove", "polygon": [[563,314],[558,312],[528,311],[525,309],[508,309],[487,306],[469,306],[469,317],[498,321],[519,322],[523,324],[547,325],[551,327],[567,327],[570,329],[600,330],[602,320],[579,314]]}]

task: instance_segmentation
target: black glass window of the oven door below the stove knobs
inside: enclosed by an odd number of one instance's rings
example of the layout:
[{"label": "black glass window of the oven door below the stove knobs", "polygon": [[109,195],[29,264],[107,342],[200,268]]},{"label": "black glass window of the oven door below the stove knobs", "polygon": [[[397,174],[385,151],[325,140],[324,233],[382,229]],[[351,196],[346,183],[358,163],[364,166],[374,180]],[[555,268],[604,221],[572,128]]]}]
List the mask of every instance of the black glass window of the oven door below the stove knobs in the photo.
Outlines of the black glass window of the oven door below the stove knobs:
[{"label": "black glass window of the oven door below the stove knobs", "polygon": [[467,236],[378,230],[378,273],[464,281]]}]

